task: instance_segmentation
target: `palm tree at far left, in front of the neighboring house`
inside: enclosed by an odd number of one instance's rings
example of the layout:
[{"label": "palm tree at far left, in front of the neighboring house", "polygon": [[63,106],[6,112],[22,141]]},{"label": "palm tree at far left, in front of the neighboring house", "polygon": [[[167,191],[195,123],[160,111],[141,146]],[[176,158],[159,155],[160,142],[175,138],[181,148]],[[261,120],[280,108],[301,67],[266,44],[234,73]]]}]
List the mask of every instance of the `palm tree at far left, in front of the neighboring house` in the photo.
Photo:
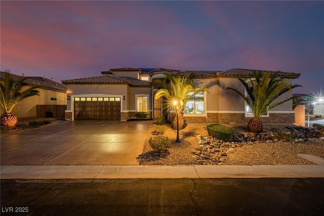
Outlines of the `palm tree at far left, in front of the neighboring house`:
[{"label": "palm tree at far left, in front of the neighboring house", "polygon": [[29,77],[20,76],[14,82],[9,73],[5,72],[3,82],[1,82],[1,110],[4,112],[1,115],[1,126],[6,126],[13,129],[17,126],[17,117],[11,113],[12,109],[23,99],[39,95],[39,91],[35,90],[41,88],[41,85],[34,85],[26,90],[22,90],[24,81]]}]

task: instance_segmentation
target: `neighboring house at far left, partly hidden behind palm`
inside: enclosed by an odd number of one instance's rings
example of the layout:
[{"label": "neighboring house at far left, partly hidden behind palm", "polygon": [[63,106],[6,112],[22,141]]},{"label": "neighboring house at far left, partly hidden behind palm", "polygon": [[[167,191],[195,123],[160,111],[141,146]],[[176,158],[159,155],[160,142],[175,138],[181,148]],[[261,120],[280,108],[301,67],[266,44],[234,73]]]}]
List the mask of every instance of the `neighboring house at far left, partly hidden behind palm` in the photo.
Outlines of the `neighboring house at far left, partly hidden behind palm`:
[{"label": "neighboring house at far left, partly hidden behind palm", "polygon": [[[1,72],[1,81],[5,77],[5,72]],[[13,80],[20,76],[10,74]],[[66,85],[47,79],[45,77],[30,77],[25,80],[27,89],[31,85],[42,85],[43,88],[37,89],[39,96],[26,98],[17,104],[12,113],[17,118],[26,117],[64,117],[66,110]]]}]

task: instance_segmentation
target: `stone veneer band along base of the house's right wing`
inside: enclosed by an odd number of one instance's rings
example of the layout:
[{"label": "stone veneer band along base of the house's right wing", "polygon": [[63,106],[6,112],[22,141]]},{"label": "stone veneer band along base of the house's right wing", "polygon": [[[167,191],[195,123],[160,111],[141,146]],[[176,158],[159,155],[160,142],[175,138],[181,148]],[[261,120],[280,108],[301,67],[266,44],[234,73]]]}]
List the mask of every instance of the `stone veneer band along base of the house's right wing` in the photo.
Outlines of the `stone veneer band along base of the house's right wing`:
[{"label": "stone veneer band along base of the house's right wing", "polygon": [[[174,113],[170,113],[172,120]],[[245,117],[245,113],[207,113],[206,116],[185,116],[187,123],[219,123],[219,124],[247,124],[252,117]],[[292,124],[295,113],[269,113],[269,117],[261,117],[265,124]]]}]

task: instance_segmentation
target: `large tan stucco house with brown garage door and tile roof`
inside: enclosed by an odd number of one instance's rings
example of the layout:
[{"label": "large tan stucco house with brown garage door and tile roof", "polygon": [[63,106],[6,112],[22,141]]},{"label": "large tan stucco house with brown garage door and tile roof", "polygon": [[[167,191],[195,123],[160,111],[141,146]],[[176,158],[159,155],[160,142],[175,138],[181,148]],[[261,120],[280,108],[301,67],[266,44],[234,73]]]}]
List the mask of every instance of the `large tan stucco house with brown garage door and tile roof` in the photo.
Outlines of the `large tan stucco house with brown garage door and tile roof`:
[{"label": "large tan stucco house with brown garage door and tile roof", "polygon": [[[265,72],[265,71],[261,71]],[[146,112],[150,118],[166,116],[170,119],[174,110],[166,99],[154,100],[156,89],[152,89],[154,79],[164,78],[165,74],[188,75],[194,73],[196,88],[207,87],[209,93],[196,94],[186,104],[184,113],[188,123],[248,123],[253,116],[245,101],[226,87],[245,92],[237,78],[253,75],[253,70],[229,69],[225,71],[179,71],[165,68],[114,68],[102,71],[102,76],[62,80],[67,84],[66,119],[71,120],[121,120],[134,117],[135,112]],[[274,73],[274,72],[271,72]],[[280,72],[279,76],[290,75],[285,79],[291,84],[299,73]],[[291,97],[292,92],[280,99]],[[292,101],[270,110],[262,117],[264,123],[294,123]]]}]

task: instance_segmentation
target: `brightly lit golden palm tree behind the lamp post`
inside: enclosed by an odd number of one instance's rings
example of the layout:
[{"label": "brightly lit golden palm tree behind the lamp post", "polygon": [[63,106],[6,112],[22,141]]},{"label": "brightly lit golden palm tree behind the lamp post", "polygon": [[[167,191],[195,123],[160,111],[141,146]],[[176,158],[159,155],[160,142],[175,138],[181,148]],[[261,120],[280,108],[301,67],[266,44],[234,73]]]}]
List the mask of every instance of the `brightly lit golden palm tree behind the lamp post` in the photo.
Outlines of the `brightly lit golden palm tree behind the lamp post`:
[{"label": "brightly lit golden palm tree behind the lamp post", "polygon": [[165,97],[169,100],[169,104],[176,103],[176,114],[172,119],[172,128],[177,128],[177,118],[179,117],[179,129],[183,128],[184,119],[183,111],[187,101],[189,101],[195,94],[201,91],[207,91],[207,88],[195,89],[193,84],[194,74],[190,73],[188,76],[182,76],[180,73],[173,76],[171,73],[166,74],[163,81],[154,80],[153,87],[159,90],[155,93],[154,99]]}]

